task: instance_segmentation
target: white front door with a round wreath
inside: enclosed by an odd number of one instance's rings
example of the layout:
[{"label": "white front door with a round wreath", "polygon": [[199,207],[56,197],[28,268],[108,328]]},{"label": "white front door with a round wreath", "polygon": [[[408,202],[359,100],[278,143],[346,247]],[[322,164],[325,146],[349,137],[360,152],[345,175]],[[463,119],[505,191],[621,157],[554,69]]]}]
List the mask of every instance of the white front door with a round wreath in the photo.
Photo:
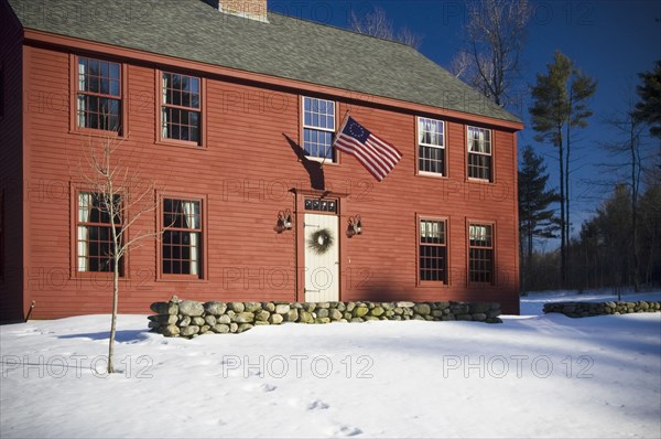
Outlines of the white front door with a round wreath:
[{"label": "white front door with a round wreath", "polygon": [[306,213],[305,301],[339,300],[339,224],[335,215]]}]

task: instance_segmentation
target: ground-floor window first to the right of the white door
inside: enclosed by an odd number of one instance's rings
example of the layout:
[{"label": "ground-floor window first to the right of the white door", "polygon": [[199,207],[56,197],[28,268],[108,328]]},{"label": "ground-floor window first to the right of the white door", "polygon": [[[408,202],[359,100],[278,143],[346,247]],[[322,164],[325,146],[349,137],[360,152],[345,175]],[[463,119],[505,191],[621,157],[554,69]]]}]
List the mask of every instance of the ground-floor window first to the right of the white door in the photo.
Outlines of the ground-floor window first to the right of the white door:
[{"label": "ground-floor window first to the right of the white door", "polygon": [[420,281],[447,283],[446,233],[445,221],[420,221]]}]

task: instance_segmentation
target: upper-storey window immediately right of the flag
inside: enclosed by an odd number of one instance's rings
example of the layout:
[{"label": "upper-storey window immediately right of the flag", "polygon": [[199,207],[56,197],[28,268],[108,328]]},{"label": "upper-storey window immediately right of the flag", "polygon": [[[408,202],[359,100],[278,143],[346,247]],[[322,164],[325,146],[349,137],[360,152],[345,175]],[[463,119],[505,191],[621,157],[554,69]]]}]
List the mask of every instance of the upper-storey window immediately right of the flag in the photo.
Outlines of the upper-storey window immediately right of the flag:
[{"label": "upper-storey window immediately right of the flag", "polygon": [[441,120],[418,118],[418,170],[445,175],[445,133]]}]

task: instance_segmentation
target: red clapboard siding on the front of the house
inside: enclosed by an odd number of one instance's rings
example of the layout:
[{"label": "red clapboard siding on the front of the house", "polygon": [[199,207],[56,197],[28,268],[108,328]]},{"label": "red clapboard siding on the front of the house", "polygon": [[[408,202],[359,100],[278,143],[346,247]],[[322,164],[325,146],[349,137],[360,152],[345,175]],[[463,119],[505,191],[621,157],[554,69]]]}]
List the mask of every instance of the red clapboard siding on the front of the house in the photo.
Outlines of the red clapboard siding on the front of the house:
[{"label": "red clapboard siding on the front of the house", "polygon": [[[13,50],[20,56],[20,50]],[[20,282],[14,282],[9,285],[9,297],[20,298],[12,300],[20,302],[23,311],[25,303],[35,300],[34,318],[110,312],[110,279],[73,272],[73,183],[85,169],[85,144],[102,140],[72,131],[71,60],[77,53],[41,46],[25,46],[24,53],[28,129],[22,160],[29,171],[25,184],[32,191],[25,200],[29,217],[23,226],[29,258],[24,292]],[[172,295],[202,301],[300,299],[296,267],[302,259],[296,233],[277,234],[273,229],[278,212],[290,208],[295,213],[296,195],[290,189],[299,193],[312,189],[310,175],[288,141],[301,141],[296,85],[283,87],[282,81],[277,86],[248,85],[199,75],[205,83],[203,148],[180,147],[158,140],[156,110],[158,72],[180,69],[166,67],[166,60],[160,65],[128,57],[120,61],[126,65],[128,120],[117,158],[139,170],[143,179],[155,180],[161,194],[203,199],[206,257],[204,280],[175,281],[158,276],[158,243],[136,248],[127,258],[127,277],[120,285],[120,312],[147,313],[151,302]],[[323,96],[339,103],[339,124],[348,108],[343,90],[335,97]],[[416,114],[368,101],[353,101],[350,113],[397,146],[403,158],[380,183],[347,154],[339,154],[338,164],[323,168],[326,189],[340,194],[340,299],[500,301],[506,312],[518,312],[516,132],[499,128],[496,120],[488,126],[494,130],[495,182],[483,184],[466,179],[468,116],[444,119],[448,176],[431,178],[415,172]],[[427,108],[425,116],[434,114]],[[3,136],[10,136],[4,131]],[[20,143],[20,132],[11,136]],[[12,151],[17,163],[20,148]],[[349,239],[344,232],[349,216],[356,214],[362,217],[364,233]],[[416,215],[447,220],[447,286],[418,285]],[[497,280],[492,286],[467,283],[470,220],[495,224]],[[294,223],[302,223],[302,215],[295,216]],[[148,213],[132,231],[155,224],[156,213]],[[15,242],[12,247],[21,246]]]}]

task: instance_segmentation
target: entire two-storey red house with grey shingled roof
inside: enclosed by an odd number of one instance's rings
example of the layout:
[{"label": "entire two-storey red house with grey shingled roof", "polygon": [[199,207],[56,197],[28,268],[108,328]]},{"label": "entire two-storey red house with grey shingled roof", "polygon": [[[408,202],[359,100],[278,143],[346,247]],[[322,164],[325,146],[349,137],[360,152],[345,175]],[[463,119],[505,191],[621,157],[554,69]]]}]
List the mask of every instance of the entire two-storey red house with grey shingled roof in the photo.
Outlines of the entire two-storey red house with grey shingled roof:
[{"label": "entire two-storey red house with grey shingled roof", "polygon": [[[163,231],[122,259],[120,312],[172,295],[519,312],[522,124],[414,49],[266,0],[0,0],[0,47],[3,320],[110,311],[110,223],[79,174],[109,137],[159,188],[126,238]],[[382,181],[332,147],[347,115],[401,152]]]}]

